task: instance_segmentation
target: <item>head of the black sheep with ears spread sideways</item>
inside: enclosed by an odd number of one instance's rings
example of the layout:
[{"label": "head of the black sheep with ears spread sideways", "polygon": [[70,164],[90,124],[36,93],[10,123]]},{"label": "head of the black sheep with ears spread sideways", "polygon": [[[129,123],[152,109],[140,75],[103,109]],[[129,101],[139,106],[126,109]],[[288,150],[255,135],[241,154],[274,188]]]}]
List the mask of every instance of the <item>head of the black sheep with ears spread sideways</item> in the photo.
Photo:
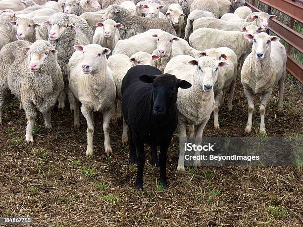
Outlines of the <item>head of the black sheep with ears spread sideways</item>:
[{"label": "head of the black sheep with ears spread sideways", "polygon": [[152,84],[152,114],[155,116],[165,115],[166,111],[176,104],[178,88],[188,89],[192,86],[187,81],[179,80],[170,74],[141,76],[140,80]]}]

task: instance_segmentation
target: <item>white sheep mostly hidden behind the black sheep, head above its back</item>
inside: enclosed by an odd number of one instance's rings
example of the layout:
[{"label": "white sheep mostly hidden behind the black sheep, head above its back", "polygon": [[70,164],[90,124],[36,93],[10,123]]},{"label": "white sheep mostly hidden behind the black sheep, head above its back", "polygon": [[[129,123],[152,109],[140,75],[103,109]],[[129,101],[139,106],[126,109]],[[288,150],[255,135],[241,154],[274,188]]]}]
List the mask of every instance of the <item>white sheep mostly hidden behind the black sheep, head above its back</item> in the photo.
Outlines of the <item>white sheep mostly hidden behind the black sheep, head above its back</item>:
[{"label": "white sheep mostly hidden behind the black sheep, head above its back", "polygon": [[[122,80],[127,73],[127,71],[136,65],[152,65],[153,61],[158,59],[157,55],[151,55],[147,52],[139,51],[133,54],[130,58],[125,54],[114,54],[109,56],[107,65],[113,72],[113,78],[116,85],[117,92],[117,109],[113,111],[112,119],[113,122],[116,118],[121,118],[121,85]],[[122,144],[127,144],[127,124],[123,118],[123,134],[122,134]]]}]

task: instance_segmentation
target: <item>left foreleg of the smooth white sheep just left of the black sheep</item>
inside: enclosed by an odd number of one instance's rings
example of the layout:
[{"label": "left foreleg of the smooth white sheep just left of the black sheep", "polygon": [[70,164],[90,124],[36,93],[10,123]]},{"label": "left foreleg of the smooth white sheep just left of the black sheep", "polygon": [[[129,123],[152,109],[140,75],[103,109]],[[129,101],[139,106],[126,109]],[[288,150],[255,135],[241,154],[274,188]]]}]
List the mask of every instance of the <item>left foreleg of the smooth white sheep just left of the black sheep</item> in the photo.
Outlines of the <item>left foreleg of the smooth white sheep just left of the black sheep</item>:
[{"label": "left foreleg of the smooth white sheep just left of the black sheep", "polygon": [[86,156],[93,156],[94,154],[94,121],[92,119],[92,110],[90,110],[87,106],[81,105],[81,112],[86,119],[87,123],[87,149],[86,149]]}]

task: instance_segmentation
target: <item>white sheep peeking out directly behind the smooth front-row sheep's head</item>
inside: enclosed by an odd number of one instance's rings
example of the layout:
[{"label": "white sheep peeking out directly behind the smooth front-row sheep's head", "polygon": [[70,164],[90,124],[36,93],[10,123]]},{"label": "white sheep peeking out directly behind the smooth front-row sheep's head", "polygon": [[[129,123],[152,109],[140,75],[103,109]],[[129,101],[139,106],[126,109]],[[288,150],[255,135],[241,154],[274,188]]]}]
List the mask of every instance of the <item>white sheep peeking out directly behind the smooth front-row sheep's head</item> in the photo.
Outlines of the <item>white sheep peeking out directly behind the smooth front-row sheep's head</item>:
[{"label": "white sheep peeking out directly behind the smooth front-row sheep's head", "polygon": [[104,22],[96,24],[93,43],[107,47],[112,51],[120,39],[118,29],[123,28],[123,24],[116,23],[114,20],[106,19]]}]

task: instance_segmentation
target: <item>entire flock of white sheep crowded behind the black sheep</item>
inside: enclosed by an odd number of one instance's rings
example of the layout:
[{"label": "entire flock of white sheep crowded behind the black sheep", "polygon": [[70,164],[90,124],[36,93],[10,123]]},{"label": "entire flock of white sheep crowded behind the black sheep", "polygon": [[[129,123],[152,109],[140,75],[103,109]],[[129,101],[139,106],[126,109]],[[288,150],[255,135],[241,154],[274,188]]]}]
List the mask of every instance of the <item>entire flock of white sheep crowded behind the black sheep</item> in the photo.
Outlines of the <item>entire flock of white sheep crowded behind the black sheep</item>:
[{"label": "entire flock of white sheep crowded behind the black sheep", "polygon": [[[252,132],[253,95],[258,93],[260,133],[265,134],[265,107],[276,83],[278,110],[283,108],[286,51],[278,37],[264,32],[275,16],[252,12],[244,3],[0,0],[0,124],[10,91],[26,113],[26,141],[33,142],[37,110],[52,128],[53,106],[58,102],[59,109],[65,108],[68,97],[74,127],[80,127],[80,102],[87,121],[86,155],[94,150],[94,111],[103,112],[105,153],[112,153],[109,123],[123,117],[123,77],[131,67],[144,64],[192,84],[178,92],[180,137],[189,125],[189,136],[195,135],[196,126],[196,137],[202,138],[212,112],[219,129],[225,91],[228,110],[233,108],[238,71],[249,104],[245,132]],[[122,143],[127,142],[123,119]],[[179,158],[178,169],[184,170],[184,159]]]}]

